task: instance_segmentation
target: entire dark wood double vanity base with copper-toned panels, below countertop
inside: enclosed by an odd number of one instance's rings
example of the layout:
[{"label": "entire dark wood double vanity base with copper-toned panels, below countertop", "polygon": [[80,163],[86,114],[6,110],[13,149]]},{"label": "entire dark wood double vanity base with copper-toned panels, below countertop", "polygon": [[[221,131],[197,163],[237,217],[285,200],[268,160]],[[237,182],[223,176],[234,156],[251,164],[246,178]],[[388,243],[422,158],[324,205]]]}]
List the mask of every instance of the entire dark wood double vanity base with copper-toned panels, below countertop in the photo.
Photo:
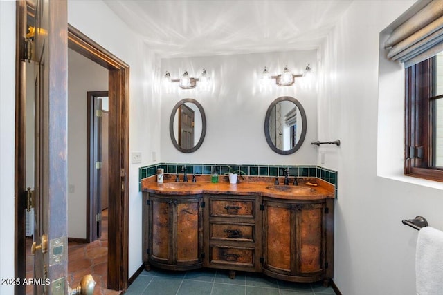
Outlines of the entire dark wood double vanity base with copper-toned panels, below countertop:
[{"label": "entire dark wood double vanity base with copper-toned panels, below countertop", "polygon": [[334,199],[239,194],[143,193],[145,268],[263,272],[329,285],[334,276]]}]

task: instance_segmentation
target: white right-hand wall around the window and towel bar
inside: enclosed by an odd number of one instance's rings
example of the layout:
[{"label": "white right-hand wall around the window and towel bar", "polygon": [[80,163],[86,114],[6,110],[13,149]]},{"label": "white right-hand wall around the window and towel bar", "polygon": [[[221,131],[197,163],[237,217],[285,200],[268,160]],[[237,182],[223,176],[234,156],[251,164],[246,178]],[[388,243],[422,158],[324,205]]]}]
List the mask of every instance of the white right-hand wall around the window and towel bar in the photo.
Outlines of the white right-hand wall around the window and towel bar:
[{"label": "white right-hand wall around the window and towel bar", "polygon": [[[443,184],[406,178],[397,167],[404,134],[401,66],[383,69],[379,82],[379,33],[413,3],[354,1],[320,50],[318,134],[341,140],[339,148],[320,147],[318,159],[325,153],[324,166],[338,171],[334,281],[343,294],[415,294],[418,232],[401,220],[424,216],[443,229]],[[395,169],[381,168],[386,173],[377,176],[377,157]]]}]

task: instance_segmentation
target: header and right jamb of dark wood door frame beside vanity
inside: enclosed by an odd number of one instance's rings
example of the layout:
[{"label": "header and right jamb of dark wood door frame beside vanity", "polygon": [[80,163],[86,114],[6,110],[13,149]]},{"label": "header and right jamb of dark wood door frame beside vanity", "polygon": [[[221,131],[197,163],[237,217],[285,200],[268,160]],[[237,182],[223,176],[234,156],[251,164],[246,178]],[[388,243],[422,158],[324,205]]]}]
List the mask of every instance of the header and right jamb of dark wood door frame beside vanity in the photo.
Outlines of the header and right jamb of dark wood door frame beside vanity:
[{"label": "header and right jamb of dark wood door frame beside vanity", "polygon": [[127,289],[129,66],[68,25],[68,47],[109,70],[108,288]]}]

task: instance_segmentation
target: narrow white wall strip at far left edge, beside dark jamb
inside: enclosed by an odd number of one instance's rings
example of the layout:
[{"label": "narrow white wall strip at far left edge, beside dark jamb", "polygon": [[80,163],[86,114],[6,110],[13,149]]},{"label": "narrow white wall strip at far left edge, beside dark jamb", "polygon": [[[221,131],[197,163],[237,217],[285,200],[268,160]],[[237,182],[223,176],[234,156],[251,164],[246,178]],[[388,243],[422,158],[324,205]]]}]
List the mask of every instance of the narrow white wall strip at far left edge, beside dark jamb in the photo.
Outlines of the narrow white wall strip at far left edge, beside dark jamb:
[{"label": "narrow white wall strip at far left edge, beside dark jamb", "polygon": [[0,1],[0,44],[0,278],[14,278],[15,1]]}]

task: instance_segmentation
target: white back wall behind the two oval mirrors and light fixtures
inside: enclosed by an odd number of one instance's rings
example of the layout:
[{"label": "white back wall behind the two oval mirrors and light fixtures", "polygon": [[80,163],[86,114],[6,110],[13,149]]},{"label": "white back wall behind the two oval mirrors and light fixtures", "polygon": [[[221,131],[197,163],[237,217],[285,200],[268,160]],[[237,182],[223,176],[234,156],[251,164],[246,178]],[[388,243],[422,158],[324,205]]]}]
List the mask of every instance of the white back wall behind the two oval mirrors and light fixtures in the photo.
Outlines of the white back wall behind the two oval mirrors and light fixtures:
[{"label": "white back wall behind the two oval mirrors and light fixtures", "polygon": [[[273,75],[285,65],[293,74],[302,73],[307,64],[316,69],[317,50],[248,55],[219,55],[161,59],[161,73],[168,70],[178,79],[184,70],[190,77],[199,77],[205,68],[212,78],[208,91],[197,82],[194,89],[183,90],[178,83],[162,86],[161,96],[161,160],[162,162],[218,163],[218,164],[316,164],[317,93],[315,79],[311,86],[296,79],[295,85],[260,91],[260,76],[264,66]],[[274,99],[291,96],[305,108],[307,135],[300,150],[292,155],[272,151],[264,137],[264,117]],[[194,153],[181,153],[172,145],[169,120],[172,108],[184,98],[193,98],[206,113],[206,137]]]}]

